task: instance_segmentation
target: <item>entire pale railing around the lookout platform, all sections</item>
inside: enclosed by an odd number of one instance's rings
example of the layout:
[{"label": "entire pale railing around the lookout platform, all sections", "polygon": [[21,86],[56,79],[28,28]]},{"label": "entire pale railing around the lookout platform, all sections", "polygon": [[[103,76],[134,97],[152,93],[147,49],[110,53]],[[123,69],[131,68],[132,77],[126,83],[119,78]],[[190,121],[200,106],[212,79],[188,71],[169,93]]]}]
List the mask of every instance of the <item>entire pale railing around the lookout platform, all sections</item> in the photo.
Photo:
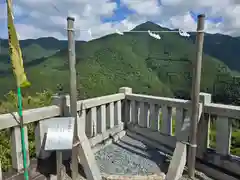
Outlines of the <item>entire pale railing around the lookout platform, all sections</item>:
[{"label": "entire pale railing around the lookout platform, all sections", "polygon": [[[232,118],[239,119],[240,107],[211,103],[211,95],[206,93],[201,93],[200,99],[203,113],[198,125],[197,157],[240,175],[239,157],[230,154],[231,122]],[[26,125],[34,123],[36,157],[48,157],[50,153],[42,153],[42,141],[47,131],[42,122],[52,117],[69,116],[69,109],[69,96],[56,96],[52,106],[24,111],[27,150],[29,148]],[[142,140],[172,154],[183,122],[189,119],[191,101],[133,94],[131,88],[125,87],[120,88],[117,94],[78,101],[77,110],[78,127],[85,127],[94,151],[124,136],[125,125],[129,135],[140,135]],[[215,150],[209,148],[211,117],[216,119]],[[18,119],[17,113],[0,115],[0,130],[10,128],[12,167],[21,171],[23,163]],[[103,141],[105,143],[101,143]]]}]

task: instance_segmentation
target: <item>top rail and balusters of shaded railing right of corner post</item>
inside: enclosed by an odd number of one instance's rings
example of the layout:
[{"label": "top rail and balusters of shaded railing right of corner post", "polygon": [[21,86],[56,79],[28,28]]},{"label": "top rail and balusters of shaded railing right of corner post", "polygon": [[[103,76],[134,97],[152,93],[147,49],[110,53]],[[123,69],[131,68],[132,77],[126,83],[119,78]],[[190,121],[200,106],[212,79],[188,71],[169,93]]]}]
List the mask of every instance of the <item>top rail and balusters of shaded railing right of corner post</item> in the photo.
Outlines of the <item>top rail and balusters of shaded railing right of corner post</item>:
[{"label": "top rail and balusters of shaded railing right of corner post", "polygon": [[186,111],[190,108],[190,101],[182,99],[140,94],[128,94],[126,99],[129,101],[129,123],[142,128],[150,127],[168,136],[173,135],[173,120],[175,131],[181,130]]}]

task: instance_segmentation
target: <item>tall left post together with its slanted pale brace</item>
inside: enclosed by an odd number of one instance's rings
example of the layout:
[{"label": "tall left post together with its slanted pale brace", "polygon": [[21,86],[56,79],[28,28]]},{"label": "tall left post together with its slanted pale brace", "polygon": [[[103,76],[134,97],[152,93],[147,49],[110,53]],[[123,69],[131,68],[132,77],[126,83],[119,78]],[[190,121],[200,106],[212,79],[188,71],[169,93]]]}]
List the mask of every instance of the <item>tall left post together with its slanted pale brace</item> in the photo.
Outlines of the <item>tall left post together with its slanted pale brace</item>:
[{"label": "tall left post together with its slanted pale brace", "polygon": [[[74,18],[67,18],[68,31],[68,53],[69,53],[69,69],[70,69],[70,114],[75,118],[73,147],[72,147],[72,180],[78,179],[78,157],[81,159],[84,172],[88,180],[101,180],[101,173],[95,161],[89,140],[85,134],[85,127],[77,113],[77,82],[76,82],[76,56],[74,41]],[[85,114],[81,112],[81,118]],[[85,124],[85,123],[84,123]]]}]

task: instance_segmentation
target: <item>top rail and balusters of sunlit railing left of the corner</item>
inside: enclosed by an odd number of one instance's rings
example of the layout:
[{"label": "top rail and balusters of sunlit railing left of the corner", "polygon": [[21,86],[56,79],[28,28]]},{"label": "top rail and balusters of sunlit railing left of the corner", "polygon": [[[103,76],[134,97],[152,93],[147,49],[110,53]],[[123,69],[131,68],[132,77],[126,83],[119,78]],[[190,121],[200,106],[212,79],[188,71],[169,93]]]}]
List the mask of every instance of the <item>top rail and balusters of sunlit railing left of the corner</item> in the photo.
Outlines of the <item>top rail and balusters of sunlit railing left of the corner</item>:
[{"label": "top rail and balusters of sunlit railing left of the corner", "polygon": [[83,121],[85,121],[85,132],[88,138],[91,139],[108,130],[112,131],[113,128],[117,128],[118,131],[123,130],[121,105],[124,98],[123,93],[118,93],[78,101],[79,114],[86,114]]}]

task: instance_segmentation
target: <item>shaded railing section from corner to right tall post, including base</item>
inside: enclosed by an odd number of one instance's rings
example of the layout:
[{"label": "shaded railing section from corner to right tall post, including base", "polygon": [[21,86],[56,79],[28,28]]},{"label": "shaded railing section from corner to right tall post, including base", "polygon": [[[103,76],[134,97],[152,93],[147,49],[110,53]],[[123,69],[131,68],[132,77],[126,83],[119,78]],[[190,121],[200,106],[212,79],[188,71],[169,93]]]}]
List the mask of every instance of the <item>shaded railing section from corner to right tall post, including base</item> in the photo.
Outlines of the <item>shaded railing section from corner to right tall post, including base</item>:
[{"label": "shaded railing section from corner to right tall post, including base", "polygon": [[163,151],[172,154],[175,135],[181,131],[190,105],[188,100],[129,93],[125,100],[125,123],[130,132],[142,135],[145,141],[160,143]]}]

